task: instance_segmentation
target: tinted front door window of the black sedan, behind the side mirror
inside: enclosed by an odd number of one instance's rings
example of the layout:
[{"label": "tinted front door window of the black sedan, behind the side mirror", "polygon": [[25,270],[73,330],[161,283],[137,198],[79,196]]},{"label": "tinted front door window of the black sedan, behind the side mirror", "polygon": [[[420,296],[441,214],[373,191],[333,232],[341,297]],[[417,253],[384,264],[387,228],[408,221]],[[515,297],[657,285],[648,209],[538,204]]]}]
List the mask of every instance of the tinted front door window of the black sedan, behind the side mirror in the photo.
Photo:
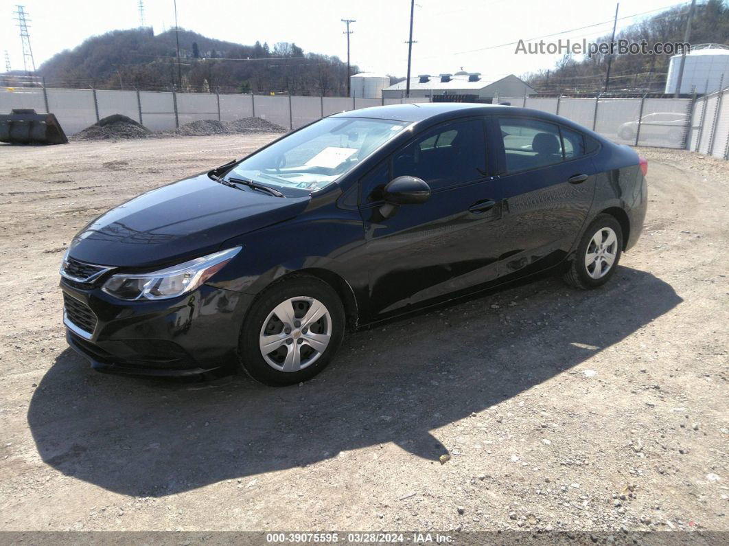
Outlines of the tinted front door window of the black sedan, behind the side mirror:
[{"label": "tinted front door window of the black sedan, behind the side mirror", "polygon": [[392,178],[417,176],[437,190],[486,175],[486,137],[481,120],[448,123],[396,152]]}]

